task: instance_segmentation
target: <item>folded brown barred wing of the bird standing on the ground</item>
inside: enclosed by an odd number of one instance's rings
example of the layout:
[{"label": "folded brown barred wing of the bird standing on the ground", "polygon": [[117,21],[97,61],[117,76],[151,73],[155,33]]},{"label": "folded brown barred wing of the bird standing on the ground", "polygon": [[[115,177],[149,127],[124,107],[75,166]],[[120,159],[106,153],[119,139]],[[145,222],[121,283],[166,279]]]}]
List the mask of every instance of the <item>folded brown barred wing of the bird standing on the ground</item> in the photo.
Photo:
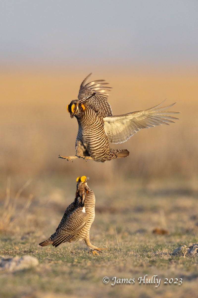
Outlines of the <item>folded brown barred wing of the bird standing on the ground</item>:
[{"label": "folded brown barred wing of the bird standing on the ground", "polygon": [[89,215],[75,210],[64,221],[64,226],[58,226],[57,235],[52,239],[52,245],[57,247],[63,242],[69,241],[85,226]]}]

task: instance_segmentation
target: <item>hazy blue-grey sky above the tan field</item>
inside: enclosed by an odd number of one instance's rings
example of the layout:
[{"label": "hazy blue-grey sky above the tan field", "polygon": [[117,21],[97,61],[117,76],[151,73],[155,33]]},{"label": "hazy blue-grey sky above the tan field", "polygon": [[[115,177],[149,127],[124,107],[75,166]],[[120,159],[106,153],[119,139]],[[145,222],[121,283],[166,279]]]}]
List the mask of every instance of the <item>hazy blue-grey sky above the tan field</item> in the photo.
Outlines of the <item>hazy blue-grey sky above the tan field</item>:
[{"label": "hazy blue-grey sky above the tan field", "polygon": [[2,65],[198,65],[197,0],[0,1]]}]

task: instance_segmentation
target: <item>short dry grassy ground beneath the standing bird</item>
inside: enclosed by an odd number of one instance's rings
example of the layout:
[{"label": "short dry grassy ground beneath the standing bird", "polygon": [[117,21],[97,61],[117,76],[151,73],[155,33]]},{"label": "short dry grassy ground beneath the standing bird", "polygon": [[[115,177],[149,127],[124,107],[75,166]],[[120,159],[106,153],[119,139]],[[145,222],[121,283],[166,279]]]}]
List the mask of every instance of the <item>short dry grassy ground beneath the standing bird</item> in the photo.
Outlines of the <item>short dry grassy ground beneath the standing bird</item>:
[{"label": "short dry grassy ground beneath the standing bird", "polygon": [[[0,297],[192,297],[197,292],[198,259],[171,255],[178,246],[197,243],[195,181],[118,179],[115,175],[110,186],[90,178],[96,195],[91,242],[107,247],[96,257],[87,253],[83,242],[56,249],[38,245],[54,232],[74,199],[74,179],[48,176],[28,183],[18,195],[12,180],[7,195],[6,186],[1,188],[1,213],[9,209],[4,208],[6,197],[10,196],[9,205],[15,207],[7,226],[1,222],[0,255],[31,255],[38,258],[39,266],[15,273],[0,271]],[[23,209],[29,200],[30,206]],[[168,233],[154,234],[155,228]],[[148,278],[158,275],[160,285],[140,284],[138,278],[146,274]],[[104,284],[103,277],[110,282]],[[114,277],[132,278],[134,284],[113,286]],[[183,283],[164,284],[165,278],[175,282],[178,278],[178,283],[182,278]]]}]

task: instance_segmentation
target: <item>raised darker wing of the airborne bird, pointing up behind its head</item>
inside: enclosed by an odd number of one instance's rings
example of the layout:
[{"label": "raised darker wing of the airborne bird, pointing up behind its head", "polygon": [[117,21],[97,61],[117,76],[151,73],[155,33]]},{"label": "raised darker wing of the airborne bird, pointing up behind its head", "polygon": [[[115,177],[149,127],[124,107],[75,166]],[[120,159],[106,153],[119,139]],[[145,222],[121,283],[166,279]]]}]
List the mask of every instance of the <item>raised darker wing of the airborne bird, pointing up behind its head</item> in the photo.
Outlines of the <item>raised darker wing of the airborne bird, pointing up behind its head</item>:
[{"label": "raised darker wing of the airborne bird, pointing up behind its head", "polygon": [[90,96],[93,93],[96,93],[93,97],[88,100],[88,105],[97,113],[100,113],[102,117],[107,117],[113,115],[111,106],[107,102],[109,91],[111,87],[108,87],[108,83],[104,83],[105,80],[96,80],[90,83],[86,83],[88,77],[91,73],[85,77],[82,84],[80,85],[80,90],[78,94],[78,99],[82,100],[85,97]]}]

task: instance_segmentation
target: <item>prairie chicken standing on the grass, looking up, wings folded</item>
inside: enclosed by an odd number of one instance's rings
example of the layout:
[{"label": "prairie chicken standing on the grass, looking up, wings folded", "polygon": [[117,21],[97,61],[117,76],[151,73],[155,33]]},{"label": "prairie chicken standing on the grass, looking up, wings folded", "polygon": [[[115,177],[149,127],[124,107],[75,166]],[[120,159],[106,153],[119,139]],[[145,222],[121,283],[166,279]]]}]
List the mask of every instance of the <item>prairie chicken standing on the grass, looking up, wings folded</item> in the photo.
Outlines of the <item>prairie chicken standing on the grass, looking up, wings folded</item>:
[{"label": "prairie chicken standing on the grass, looking up, wings folded", "polygon": [[87,177],[77,177],[75,200],[70,204],[61,219],[56,232],[50,238],[39,243],[40,246],[52,244],[57,247],[63,242],[76,242],[84,240],[91,249],[90,252],[98,254],[103,248],[91,244],[89,231],[95,218],[95,195],[87,185]]}]

